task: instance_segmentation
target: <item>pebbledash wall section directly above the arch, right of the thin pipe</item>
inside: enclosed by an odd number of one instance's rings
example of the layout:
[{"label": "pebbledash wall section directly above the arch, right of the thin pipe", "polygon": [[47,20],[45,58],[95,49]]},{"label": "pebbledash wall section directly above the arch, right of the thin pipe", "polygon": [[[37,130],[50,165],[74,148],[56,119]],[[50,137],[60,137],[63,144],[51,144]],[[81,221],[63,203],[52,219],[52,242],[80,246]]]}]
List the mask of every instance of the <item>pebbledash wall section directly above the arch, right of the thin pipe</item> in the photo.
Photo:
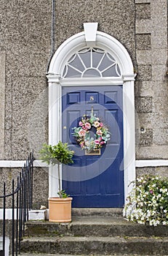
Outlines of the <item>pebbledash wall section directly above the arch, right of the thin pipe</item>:
[{"label": "pebbledash wall section directly above the arch, right of the thin pipe", "polygon": [[83,30],[84,22],[119,39],[135,61],[135,3],[133,0],[59,0],[56,4],[56,47]]}]

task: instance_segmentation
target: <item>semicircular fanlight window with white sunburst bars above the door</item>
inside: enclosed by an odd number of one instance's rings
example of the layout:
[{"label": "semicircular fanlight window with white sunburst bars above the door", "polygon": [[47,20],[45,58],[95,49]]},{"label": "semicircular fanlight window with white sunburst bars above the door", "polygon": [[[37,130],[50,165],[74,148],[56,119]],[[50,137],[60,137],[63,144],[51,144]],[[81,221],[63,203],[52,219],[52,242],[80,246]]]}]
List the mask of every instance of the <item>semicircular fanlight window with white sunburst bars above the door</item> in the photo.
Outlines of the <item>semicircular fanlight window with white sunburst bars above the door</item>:
[{"label": "semicircular fanlight window with white sunburst bars above the door", "polygon": [[116,60],[105,50],[84,48],[73,54],[65,64],[63,78],[119,77],[121,72]]}]

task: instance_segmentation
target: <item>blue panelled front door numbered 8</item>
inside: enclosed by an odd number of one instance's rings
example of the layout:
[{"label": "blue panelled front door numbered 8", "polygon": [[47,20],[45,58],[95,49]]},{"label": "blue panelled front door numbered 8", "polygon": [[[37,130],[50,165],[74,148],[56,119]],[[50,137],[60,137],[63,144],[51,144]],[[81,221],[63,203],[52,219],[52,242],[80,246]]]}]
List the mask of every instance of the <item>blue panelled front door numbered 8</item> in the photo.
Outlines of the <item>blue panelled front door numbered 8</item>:
[{"label": "blue panelled front door numbered 8", "polygon": [[[73,207],[124,205],[122,97],[122,86],[63,87],[63,142],[75,151],[73,165],[63,166],[63,189],[73,197]],[[100,155],[87,155],[72,134],[92,110],[111,132]]]}]

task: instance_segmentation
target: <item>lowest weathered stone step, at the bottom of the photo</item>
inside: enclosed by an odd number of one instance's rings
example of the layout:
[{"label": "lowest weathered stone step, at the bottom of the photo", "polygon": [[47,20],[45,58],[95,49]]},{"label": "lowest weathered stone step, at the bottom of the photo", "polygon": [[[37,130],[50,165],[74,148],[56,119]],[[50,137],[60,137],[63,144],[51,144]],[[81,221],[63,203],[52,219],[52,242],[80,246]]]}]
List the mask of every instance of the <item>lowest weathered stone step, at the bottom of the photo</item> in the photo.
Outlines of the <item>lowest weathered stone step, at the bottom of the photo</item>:
[{"label": "lowest weathered stone step, at the bottom of the photo", "polygon": [[31,237],[22,252],[67,255],[168,255],[168,237]]}]

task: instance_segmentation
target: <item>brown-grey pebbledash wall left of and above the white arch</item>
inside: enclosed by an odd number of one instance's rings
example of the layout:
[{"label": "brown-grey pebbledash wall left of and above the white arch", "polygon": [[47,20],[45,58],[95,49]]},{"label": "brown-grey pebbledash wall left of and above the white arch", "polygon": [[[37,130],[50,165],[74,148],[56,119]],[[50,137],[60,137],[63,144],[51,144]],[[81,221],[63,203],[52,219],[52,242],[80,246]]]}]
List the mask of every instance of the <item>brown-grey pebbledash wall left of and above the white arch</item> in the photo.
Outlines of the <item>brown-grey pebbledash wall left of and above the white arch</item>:
[{"label": "brown-grey pebbledash wall left of and above the white arch", "polygon": [[[52,1],[0,1],[1,44],[6,54],[4,159],[38,158],[47,142],[47,79],[51,56]],[[124,1],[65,1],[55,4],[55,49],[98,22],[127,48],[135,63],[135,4]]]}]

